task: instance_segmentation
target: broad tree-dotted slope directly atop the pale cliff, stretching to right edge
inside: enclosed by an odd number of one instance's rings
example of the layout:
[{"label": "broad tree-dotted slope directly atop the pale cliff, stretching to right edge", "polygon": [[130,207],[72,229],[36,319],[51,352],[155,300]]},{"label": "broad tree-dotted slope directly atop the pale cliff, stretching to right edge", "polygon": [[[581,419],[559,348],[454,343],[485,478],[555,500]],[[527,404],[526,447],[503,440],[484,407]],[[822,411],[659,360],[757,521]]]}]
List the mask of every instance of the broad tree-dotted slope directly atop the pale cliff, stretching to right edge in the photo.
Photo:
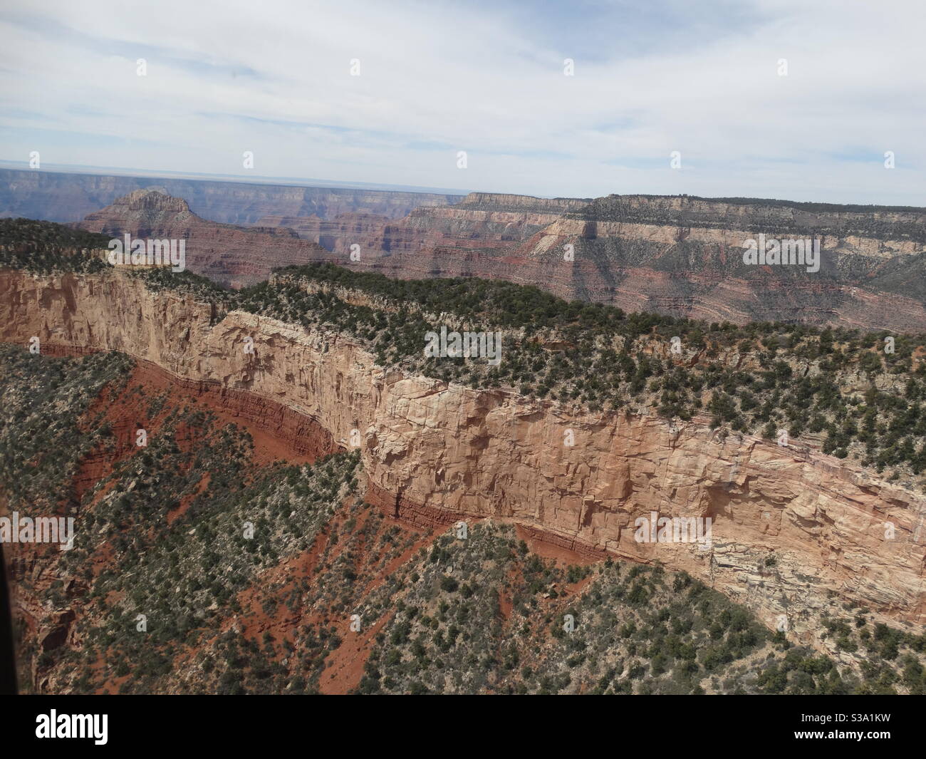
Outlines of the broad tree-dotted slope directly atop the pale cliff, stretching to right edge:
[{"label": "broad tree-dotted slope directly atop the pale cliff, stretching to right edge", "polygon": [[[237,292],[189,272],[134,275],[213,303],[217,319],[246,310],[342,331],[382,366],[592,411],[706,415],[726,432],[770,439],[784,430],[798,445],[926,487],[924,334],[705,323],[569,302],[534,286],[394,280],[330,263],[287,267]],[[442,325],[502,332],[501,364],[426,358],[425,335]]]}]

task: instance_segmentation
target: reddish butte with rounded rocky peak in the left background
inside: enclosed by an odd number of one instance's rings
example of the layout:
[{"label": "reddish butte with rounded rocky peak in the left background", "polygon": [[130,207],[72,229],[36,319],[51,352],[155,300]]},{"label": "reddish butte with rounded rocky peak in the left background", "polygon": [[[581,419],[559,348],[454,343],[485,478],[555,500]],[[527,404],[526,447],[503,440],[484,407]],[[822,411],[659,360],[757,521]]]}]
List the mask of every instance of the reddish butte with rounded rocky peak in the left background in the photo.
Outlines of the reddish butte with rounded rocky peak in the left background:
[{"label": "reddish butte with rounded rocky peak in the left background", "polygon": [[159,188],[136,190],[89,214],[81,229],[121,237],[185,240],[186,268],[220,285],[254,285],[279,266],[330,258],[289,229],[236,227],[200,219],[185,200]]}]

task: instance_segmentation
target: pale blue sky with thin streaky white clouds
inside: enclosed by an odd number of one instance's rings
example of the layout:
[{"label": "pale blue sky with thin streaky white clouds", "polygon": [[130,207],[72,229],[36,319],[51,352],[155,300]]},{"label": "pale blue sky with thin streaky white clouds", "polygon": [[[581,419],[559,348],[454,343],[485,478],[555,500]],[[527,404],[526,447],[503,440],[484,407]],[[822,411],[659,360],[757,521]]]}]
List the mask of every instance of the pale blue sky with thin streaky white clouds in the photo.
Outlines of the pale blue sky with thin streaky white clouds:
[{"label": "pale blue sky with thin streaky white clouds", "polygon": [[926,206],[924,21],[922,0],[0,0],[0,159]]}]

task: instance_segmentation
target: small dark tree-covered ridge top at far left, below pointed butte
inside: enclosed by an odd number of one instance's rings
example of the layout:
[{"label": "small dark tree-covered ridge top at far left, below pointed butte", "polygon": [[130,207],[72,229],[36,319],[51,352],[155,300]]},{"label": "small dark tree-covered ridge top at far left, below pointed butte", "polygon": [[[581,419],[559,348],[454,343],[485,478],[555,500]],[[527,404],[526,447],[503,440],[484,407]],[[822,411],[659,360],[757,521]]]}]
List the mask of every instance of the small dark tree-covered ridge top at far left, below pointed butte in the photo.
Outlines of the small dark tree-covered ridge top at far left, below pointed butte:
[{"label": "small dark tree-covered ridge top at far left, below pointed butte", "polygon": [[0,268],[51,272],[102,272],[106,263],[84,250],[106,249],[106,234],[54,221],[0,219]]}]

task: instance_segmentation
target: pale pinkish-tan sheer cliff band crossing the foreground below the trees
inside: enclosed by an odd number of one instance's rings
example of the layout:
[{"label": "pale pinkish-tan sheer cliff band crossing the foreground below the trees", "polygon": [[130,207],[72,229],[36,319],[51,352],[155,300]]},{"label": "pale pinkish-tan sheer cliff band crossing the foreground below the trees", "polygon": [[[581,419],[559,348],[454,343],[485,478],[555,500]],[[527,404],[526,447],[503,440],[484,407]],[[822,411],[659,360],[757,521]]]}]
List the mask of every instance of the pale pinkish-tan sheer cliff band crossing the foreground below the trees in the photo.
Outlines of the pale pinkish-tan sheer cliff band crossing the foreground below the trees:
[{"label": "pale pinkish-tan sheer cliff band crossing the foreground below the trees", "polygon": [[[851,464],[722,438],[698,420],[671,429],[655,416],[447,386],[384,371],[343,335],[213,317],[120,272],[0,275],[3,341],[121,350],[311,418],[335,444],[359,442],[368,499],[407,519],[492,516],[576,550],[685,569],[817,644],[820,613],[845,601],[926,622],[926,499]],[[638,542],[635,520],[651,512],[711,517],[711,546]]]}]

